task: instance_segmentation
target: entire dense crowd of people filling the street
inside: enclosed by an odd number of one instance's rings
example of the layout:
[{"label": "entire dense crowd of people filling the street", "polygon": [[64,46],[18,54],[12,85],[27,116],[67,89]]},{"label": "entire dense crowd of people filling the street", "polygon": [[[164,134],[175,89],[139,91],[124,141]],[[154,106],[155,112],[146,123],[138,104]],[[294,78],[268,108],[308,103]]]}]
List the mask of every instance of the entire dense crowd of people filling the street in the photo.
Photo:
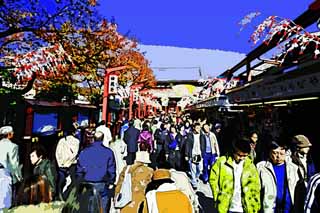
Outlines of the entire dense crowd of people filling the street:
[{"label": "entire dense crowd of people filling the street", "polygon": [[[0,128],[0,212],[203,212],[200,182],[212,190],[210,212],[319,212],[320,173],[304,135],[290,144],[258,131],[228,143],[223,124],[161,113],[105,121],[57,141],[54,159],[41,143],[22,174],[14,129]],[[52,151],[52,150],[51,150]]]}]

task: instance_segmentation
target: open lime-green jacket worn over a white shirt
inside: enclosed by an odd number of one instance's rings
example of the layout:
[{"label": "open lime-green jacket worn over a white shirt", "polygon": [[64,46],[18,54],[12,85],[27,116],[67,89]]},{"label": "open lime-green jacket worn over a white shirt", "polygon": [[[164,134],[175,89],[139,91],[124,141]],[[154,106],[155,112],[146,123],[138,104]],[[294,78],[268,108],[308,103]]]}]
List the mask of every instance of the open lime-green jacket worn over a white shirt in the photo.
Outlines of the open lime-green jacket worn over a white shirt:
[{"label": "open lime-green jacket worn over a white shirt", "polygon": [[[219,213],[228,212],[233,197],[234,175],[233,158],[218,158],[211,169],[209,183],[213,193],[216,209]],[[260,209],[260,179],[257,168],[247,157],[241,174],[241,202],[244,212],[254,213]]]}]

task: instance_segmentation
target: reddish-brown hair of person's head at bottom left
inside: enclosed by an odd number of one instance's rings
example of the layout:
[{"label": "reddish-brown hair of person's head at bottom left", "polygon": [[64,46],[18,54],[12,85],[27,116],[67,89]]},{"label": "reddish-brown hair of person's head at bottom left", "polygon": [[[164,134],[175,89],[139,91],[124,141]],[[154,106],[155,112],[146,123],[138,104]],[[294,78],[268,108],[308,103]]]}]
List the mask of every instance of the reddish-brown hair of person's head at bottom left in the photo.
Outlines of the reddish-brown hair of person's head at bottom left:
[{"label": "reddish-brown hair of person's head at bottom left", "polygon": [[26,178],[18,189],[16,204],[36,205],[51,201],[52,194],[48,179],[45,176],[31,176]]}]

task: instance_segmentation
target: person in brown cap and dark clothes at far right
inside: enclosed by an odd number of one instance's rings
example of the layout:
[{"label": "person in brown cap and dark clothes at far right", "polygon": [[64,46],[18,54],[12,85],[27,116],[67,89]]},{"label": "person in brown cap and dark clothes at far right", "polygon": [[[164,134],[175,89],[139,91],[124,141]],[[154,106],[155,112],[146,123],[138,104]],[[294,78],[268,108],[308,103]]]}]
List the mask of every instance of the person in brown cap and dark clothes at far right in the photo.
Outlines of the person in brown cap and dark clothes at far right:
[{"label": "person in brown cap and dark clothes at far right", "polygon": [[311,176],[316,173],[315,165],[310,155],[312,144],[304,135],[295,135],[292,138],[293,152],[291,154],[292,162],[298,166],[299,181],[296,186],[295,209],[302,212],[304,201],[307,195],[307,183]]}]

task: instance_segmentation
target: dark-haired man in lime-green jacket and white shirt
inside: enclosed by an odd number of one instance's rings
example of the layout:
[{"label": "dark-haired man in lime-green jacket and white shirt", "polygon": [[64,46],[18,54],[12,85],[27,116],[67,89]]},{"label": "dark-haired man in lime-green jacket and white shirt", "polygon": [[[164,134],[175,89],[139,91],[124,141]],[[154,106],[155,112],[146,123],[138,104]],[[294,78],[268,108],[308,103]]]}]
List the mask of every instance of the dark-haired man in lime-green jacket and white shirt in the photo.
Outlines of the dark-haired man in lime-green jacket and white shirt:
[{"label": "dark-haired man in lime-green jacket and white shirt", "polygon": [[210,172],[215,208],[219,213],[257,213],[261,185],[257,168],[249,157],[249,140],[235,140],[232,148],[231,155],[219,157]]}]

